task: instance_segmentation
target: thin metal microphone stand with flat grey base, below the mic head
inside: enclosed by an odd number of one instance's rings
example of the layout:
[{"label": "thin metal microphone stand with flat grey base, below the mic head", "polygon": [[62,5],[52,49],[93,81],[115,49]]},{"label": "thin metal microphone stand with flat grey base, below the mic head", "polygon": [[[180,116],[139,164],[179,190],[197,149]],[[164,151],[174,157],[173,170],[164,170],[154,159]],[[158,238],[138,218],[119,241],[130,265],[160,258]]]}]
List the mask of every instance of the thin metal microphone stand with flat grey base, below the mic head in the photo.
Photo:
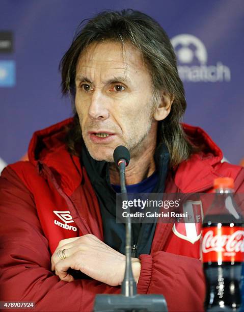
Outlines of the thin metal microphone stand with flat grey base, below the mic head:
[{"label": "thin metal microphone stand with flat grey base, below the mic head", "polygon": [[[126,161],[118,162],[122,199],[127,200],[125,186]],[[128,207],[129,208],[129,207]],[[128,213],[129,213],[128,209]],[[126,219],[126,266],[120,295],[103,295],[95,297],[94,312],[167,312],[167,303],[163,295],[138,295],[137,284],[133,278],[131,267],[131,221]]]}]

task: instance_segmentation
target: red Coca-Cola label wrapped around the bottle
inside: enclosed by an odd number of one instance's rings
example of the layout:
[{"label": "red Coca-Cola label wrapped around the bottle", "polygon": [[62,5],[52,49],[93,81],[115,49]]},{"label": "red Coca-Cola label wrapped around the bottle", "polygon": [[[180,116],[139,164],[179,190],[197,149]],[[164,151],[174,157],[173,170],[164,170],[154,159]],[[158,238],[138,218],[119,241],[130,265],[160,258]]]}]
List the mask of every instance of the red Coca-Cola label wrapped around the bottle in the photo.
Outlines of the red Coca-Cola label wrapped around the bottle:
[{"label": "red Coca-Cola label wrapped around the bottle", "polygon": [[241,262],[244,261],[243,256],[243,227],[212,226],[202,229],[203,262]]}]

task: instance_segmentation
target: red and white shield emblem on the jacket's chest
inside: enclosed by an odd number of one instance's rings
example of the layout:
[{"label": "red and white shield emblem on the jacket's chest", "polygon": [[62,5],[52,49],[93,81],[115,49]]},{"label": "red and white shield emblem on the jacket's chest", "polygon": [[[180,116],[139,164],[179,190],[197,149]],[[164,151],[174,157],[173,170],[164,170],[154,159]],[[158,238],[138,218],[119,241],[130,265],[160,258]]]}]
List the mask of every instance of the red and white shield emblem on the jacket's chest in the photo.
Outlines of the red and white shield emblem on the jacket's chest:
[{"label": "red and white shield emblem on the jacket's chest", "polygon": [[201,200],[187,200],[183,203],[183,213],[187,212],[184,223],[175,223],[172,230],[179,238],[194,244],[202,233],[203,208]]}]

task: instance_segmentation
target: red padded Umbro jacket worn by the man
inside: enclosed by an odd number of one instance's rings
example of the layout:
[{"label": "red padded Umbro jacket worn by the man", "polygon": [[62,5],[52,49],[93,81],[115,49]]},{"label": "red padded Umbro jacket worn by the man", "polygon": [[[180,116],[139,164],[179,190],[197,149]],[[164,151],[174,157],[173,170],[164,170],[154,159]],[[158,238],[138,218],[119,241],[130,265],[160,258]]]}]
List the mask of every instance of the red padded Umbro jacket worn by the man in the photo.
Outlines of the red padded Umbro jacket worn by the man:
[{"label": "red padded Umbro jacket worn by the man", "polygon": [[[29,162],[8,166],[0,178],[1,301],[35,301],[35,310],[91,311],[99,293],[120,293],[97,280],[61,281],[50,257],[62,239],[92,233],[103,239],[97,198],[84,167],[62,143],[65,120],[34,134]],[[204,146],[169,174],[165,192],[209,192],[230,176],[244,192],[244,169],[221,163],[222,152],[198,127],[185,132]],[[199,236],[200,237],[200,236]],[[173,224],[158,223],[151,254],[143,254],[140,294],[164,294],[170,311],[201,310],[204,277],[195,242]]]}]

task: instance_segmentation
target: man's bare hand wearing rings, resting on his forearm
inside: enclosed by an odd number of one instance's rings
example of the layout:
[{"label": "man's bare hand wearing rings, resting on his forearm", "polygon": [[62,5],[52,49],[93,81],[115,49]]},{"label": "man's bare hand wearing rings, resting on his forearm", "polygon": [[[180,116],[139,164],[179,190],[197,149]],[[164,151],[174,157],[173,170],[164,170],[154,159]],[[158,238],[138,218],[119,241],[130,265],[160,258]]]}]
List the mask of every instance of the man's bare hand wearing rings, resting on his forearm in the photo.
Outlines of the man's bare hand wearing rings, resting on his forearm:
[{"label": "man's bare hand wearing rings, resting on his forearm", "polygon": [[[58,252],[64,249],[66,258],[61,260]],[[59,242],[51,257],[51,269],[55,270],[60,279],[72,281],[73,276],[67,273],[69,268],[80,270],[103,283],[117,286],[124,278],[125,255],[92,234],[69,238]],[[132,271],[136,282],[138,282],[140,270],[140,260],[132,258]]]}]

